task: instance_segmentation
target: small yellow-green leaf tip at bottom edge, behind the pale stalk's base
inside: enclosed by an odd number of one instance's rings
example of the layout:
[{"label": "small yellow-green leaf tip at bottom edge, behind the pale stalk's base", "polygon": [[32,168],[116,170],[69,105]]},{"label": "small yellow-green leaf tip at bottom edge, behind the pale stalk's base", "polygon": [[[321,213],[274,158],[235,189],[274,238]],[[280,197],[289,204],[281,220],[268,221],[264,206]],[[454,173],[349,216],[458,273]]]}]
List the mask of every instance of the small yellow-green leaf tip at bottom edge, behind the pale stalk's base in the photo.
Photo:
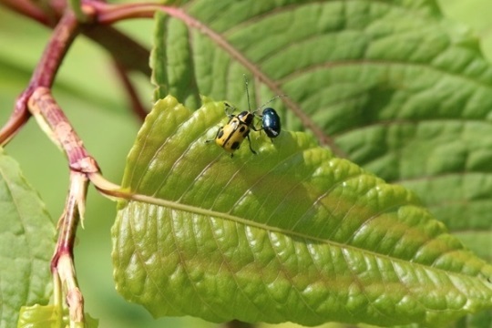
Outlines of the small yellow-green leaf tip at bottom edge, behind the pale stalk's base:
[{"label": "small yellow-green leaf tip at bottom edge, behind the pale stalk's base", "polygon": [[[86,323],[75,323],[77,328],[97,328],[98,321],[85,314]],[[67,309],[56,305],[23,306],[17,328],[64,328],[70,324]]]}]

